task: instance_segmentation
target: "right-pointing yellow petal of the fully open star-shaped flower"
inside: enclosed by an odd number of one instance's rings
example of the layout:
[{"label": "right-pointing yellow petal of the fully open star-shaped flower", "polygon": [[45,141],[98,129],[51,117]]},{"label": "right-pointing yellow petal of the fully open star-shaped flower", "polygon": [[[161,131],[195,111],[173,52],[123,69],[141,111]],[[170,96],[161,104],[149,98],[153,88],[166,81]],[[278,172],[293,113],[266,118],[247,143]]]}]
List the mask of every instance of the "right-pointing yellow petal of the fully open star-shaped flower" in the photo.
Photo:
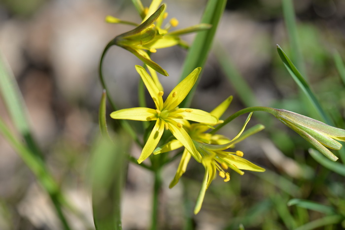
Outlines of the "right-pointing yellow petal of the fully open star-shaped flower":
[{"label": "right-pointing yellow petal of the fully open star-shaped flower", "polygon": [[218,119],[215,116],[212,116],[210,113],[205,112],[201,109],[180,108],[177,109],[176,112],[172,112],[169,114],[173,116],[174,113],[176,113],[176,116],[182,116],[183,119],[189,121],[196,121],[206,124],[216,124],[218,122]]}]

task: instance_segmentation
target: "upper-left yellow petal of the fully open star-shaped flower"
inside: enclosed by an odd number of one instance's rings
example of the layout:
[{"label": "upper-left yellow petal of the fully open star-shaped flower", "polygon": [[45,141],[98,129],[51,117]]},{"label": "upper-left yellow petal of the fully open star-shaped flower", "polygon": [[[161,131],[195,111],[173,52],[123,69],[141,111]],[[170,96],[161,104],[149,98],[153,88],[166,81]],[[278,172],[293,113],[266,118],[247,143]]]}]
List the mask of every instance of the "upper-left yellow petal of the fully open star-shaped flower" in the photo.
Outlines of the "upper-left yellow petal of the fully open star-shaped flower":
[{"label": "upper-left yellow petal of the fully open star-shaped flower", "polygon": [[146,70],[141,66],[136,66],[136,69],[144,82],[148,92],[151,95],[151,98],[155,102],[156,108],[162,110],[163,107],[163,99],[162,95],[160,96],[160,90],[157,88],[156,84],[154,83],[153,79],[150,75],[146,72]]}]

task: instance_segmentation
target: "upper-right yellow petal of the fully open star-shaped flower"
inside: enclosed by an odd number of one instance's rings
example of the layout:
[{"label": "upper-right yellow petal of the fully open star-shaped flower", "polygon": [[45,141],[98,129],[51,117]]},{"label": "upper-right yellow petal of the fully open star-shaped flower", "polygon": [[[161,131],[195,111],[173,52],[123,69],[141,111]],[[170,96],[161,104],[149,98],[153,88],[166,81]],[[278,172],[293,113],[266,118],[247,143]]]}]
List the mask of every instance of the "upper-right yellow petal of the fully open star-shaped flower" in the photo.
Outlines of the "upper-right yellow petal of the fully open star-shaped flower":
[{"label": "upper-right yellow petal of the fully open star-shaped flower", "polygon": [[163,109],[171,110],[178,106],[188,95],[198,79],[201,67],[194,69],[186,78],[184,78],[169,94],[163,104]]}]

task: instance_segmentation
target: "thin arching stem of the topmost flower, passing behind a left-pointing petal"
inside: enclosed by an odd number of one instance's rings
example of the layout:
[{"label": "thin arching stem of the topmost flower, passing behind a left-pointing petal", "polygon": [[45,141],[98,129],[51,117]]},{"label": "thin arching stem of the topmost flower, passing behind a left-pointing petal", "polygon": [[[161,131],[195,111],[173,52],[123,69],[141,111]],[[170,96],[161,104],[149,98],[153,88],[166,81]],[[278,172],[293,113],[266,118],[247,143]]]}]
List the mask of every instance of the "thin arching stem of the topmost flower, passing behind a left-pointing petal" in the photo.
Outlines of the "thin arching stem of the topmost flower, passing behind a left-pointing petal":
[{"label": "thin arching stem of the topmost flower, passing behind a left-pointing petal", "polygon": [[[103,60],[104,60],[104,57],[105,57],[105,54],[106,52],[108,51],[108,49],[113,45],[113,40],[111,40],[104,48],[103,50],[103,53],[102,53],[102,56],[101,56],[101,60],[100,60],[100,65],[99,65],[99,69],[98,69],[98,73],[99,73],[99,77],[100,77],[100,81],[101,81],[101,84],[102,84],[102,87],[103,89],[106,91],[106,98],[108,99],[109,103],[110,103],[110,106],[111,106],[111,109],[113,111],[116,111],[117,108],[115,106],[115,103],[114,101],[111,99],[110,95],[109,95],[109,90],[107,89],[106,87],[106,84],[105,84],[105,81],[104,81],[104,77],[103,77],[103,73],[102,73],[102,64],[103,64]],[[132,129],[132,127],[130,126],[130,124],[125,121],[125,120],[117,120],[118,123],[120,124],[120,126],[126,130],[130,135],[131,137],[136,141],[136,143],[143,147],[144,145],[139,141],[138,139],[138,136],[136,134],[136,132]]]}]

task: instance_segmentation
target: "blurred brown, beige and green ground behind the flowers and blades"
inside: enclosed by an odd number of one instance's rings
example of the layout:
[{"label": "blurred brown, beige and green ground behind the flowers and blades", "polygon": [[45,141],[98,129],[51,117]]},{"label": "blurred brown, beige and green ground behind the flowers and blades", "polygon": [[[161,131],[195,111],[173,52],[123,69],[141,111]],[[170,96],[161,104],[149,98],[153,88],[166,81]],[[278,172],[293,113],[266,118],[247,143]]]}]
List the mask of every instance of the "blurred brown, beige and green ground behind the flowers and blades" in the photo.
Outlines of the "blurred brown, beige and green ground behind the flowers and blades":
[{"label": "blurred brown, beige and green ground behind the flowers and blades", "polygon": [[[206,0],[164,2],[168,20],[172,17],[179,20],[177,29],[198,24],[206,5]],[[148,0],[143,3],[149,5]],[[344,82],[336,68],[334,52],[345,58],[345,1],[293,3],[303,61],[298,67],[324,109],[344,129]],[[93,144],[99,133],[100,56],[109,40],[132,29],[106,24],[106,15],[140,22],[129,0],[0,1],[0,53],[19,84],[35,140],[49,170],[83,217],[69,217],[76,230],[94,228],[89,171]],[[183,39],[191,43],[193,37],[194,34]],[[279,44],[290,56],[289,42],[281,1],[229,0],[192,107],[211,111],[233,95],[224,118],[244,107],[270,106],[321,119],[304,101],[276,52]],[[152,60],[170,74],[160,76],[165,91],[170,92],[177,84],[185,56],[186,50],[180,47],[152,55]],[[104,60],[106,83],[120,108],[138,106],[139,76],[134,65],[141,63],[119,47],[112,47]],[[11,124],[1,100],[0,116]],[[289,199],[303,198],[326,205],[345,203],[344,177],[316,163],[308,154],[308,142],[272,118],[260,112],[254,116],[248,126],[261,123],[266,130],[247,138],[235,149],[242,150],[245,159],[267,171],[246,172],[242,176],[230,172],[228,183],[216,178],[197,216],[191,212],[204,175],[203,166],[191,162],[179,184],[171,190],[169,183],[178,160],[165,169],[162,229],[182,229],[184,216],[198,230],[238,229],[241,223],[249,230],[293,229],[290,222],[299,226],[324,214],[288,207]],[[224,127],[222,133],[234,137],[244,120],[244,116],[238,118]],[[140,151],[133,143],[133,156],[138,157]],[[149,171],[130,164],[122,203],[124,229],[148,229],[152,183]],[[0,136],[0,229],[60,228],[49,197]],[[334,225],[329,229],[342,227]]]}]

